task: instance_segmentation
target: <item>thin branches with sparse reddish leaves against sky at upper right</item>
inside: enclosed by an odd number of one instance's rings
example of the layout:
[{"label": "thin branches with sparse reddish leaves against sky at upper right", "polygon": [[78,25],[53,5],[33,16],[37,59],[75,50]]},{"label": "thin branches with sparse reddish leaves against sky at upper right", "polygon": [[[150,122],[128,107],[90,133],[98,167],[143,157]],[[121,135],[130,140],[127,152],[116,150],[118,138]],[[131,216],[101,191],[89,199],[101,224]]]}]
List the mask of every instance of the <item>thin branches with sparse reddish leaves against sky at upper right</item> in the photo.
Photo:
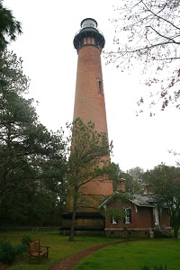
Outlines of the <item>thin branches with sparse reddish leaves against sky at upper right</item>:
[{"label": "thin branches with sparse reddish leaves against sky at upper right", "polygon": [[146,85],[159,84],[157,93],[150,93],[150,107],[161,101],[161,110],[169,104],[179,109],[179,0],[122,0],[114,10],[114,50],[107,61],[121,71],[139,61],[142,72],[152,74]]}]

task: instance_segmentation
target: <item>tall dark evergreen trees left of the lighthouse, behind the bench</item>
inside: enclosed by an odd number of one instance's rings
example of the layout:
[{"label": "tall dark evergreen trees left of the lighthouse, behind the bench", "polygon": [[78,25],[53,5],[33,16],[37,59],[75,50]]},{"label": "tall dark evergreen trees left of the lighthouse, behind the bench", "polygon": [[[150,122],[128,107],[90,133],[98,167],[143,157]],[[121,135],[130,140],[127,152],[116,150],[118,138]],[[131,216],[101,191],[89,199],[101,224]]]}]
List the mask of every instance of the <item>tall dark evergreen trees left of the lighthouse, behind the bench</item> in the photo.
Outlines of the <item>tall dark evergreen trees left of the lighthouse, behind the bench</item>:
[{"label": "tall dark evergreen trees left of the lighthouse, behind the bench", "polygon": [[[30,80],[23,74],[22,63],[13,52],[4,51],[0,58],[0,216],[4,224],[43,223],[47,212],[59,204],[66,176],[63,130],[49,132],[38,121],[33,100],[25,98]],[[37,204],[45,207],[37,212]]]}]

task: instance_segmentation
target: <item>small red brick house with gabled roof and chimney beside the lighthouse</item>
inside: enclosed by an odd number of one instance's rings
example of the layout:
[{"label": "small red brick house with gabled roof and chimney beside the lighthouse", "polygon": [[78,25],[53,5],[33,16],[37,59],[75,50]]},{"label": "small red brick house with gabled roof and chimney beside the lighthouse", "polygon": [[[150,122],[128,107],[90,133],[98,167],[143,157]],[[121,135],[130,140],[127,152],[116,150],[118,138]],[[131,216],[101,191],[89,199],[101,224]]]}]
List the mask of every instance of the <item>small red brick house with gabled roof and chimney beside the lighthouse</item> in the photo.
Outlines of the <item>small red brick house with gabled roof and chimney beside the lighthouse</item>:
[{"label": "small red brick house with gabled roof and chimney beside the lighthouse", "polygon": [[[129,196],[127,202],[121,202],[119,194]],[[170,219],[166,207],[158,210],[151,195],[125,193],[125,180],[121,179],[117,191],[102,202],[99,209],[108,211],[119,208],[124,217],[105,218],[105,235],[120,238],[148,238],[170,236]]]}]

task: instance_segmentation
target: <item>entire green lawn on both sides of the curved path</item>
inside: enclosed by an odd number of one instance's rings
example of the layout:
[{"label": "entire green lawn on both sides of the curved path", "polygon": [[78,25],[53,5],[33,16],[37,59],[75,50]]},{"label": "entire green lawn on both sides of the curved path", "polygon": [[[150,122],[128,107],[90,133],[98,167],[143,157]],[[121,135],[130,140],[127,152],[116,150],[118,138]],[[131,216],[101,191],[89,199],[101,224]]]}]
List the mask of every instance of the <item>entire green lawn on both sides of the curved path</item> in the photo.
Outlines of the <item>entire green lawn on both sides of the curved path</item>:
[{"label": "entire green lawn on both sides of the curved path", "polygon": [[[40,238],[42,245],[49,246],[49,259],[43,258],[40,265],[29,264],[28,257],[8,267],[12,270],[45,270],[56,265],[59,261],[77,252],[107,244],[120,238],[104,237],[76,237],[74,242],[69,242],[67,236],[59,236],[58,231],[31,232],[14,231],[0,232],[0,238],[8,238],[12,245],[21,244],[24,235],[28,235],[33,240]],[[180,239],[173,238],[148,238],[143,240],[133,240],[128,243],[115,244],[105,247],[92,255],[85,257],[73,270],[103,269],[103,270],[140,270],[141,266],[163,265],[167,270],[180,269]],[[0,268],[1,269],[1,268]]]}]

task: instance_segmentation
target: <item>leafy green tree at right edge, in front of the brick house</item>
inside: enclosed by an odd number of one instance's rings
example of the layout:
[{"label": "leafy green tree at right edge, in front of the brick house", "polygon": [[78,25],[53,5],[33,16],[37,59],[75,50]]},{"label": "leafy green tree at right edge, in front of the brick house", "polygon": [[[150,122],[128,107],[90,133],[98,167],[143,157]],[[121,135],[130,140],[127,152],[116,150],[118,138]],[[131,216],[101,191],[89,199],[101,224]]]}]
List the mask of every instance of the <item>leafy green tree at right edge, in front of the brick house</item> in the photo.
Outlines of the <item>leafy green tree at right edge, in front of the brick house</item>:
[{"label": "leafy green tree at right edge, in front of the brick house", "polygon": [[174,229],[175,238],[180,228],[180,169],[164,164],[147,171],[144,180],[148,186],[148,192],[153,193],[157,205],[167,208]]}]

